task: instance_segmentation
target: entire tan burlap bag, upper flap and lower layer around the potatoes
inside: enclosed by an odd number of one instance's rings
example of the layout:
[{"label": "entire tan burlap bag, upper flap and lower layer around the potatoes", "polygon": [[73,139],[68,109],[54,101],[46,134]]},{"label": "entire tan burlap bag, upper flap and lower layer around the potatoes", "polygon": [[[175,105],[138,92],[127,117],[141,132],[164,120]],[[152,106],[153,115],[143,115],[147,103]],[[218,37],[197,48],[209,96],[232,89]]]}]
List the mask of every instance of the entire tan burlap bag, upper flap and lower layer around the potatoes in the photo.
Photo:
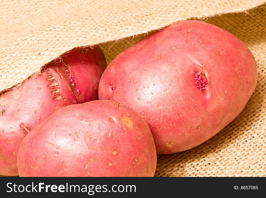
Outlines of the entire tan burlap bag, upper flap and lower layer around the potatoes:
[{"label": "entire tan burlap bag, upper flap and lower layer around the potatoes", "polygon": [[99,44],[107,64],[145,35],[178,20],[219,26],[249,47],[258,84],[242,113],[205,143],[158,155],[155,176],[266,176],[266,4],[264,0],[91,0],[0,2],[0,91],[60,54]]}]

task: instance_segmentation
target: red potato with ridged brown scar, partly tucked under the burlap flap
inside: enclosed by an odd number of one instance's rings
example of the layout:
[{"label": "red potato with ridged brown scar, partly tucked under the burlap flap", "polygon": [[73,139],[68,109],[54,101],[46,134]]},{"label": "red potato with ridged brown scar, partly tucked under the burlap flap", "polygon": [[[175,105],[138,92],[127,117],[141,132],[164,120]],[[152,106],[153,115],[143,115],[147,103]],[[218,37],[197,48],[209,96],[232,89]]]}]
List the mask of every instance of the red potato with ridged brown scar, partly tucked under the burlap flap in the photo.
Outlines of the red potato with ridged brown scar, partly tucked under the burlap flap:
[{"label": "red potato with ridged brown scar, partly tucked under the burlap flap", "polygon": [[41,74],[0,96],[0,174],[17,176],[19,145],[34,127],[57,109],[98,99],[106,68],[101,49],[74,49],[52,61]]}]

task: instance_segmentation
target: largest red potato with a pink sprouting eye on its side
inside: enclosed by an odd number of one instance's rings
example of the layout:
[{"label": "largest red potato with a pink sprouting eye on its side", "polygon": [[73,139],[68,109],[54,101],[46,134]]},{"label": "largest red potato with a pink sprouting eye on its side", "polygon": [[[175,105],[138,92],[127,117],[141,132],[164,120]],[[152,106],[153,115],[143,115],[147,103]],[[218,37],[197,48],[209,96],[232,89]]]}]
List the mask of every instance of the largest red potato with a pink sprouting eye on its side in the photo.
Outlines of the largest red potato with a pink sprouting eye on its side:
[{"label": "largest red potato with a pink sprouting eye on its side", "polygon": [[148,122],[157,153],[191,149],[218,133],[255,90],[245,44],[214,25],[180,21],[121,52],[106,68],[99,99],[125,103]]}]

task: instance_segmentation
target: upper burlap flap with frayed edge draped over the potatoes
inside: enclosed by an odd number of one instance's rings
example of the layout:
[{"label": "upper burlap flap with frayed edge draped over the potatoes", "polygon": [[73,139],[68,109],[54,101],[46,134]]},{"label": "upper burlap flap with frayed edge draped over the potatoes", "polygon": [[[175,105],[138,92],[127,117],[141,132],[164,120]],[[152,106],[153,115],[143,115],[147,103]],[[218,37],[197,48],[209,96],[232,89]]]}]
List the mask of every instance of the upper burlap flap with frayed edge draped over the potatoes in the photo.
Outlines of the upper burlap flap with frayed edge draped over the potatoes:
[{"label": "upper burlap flap with frayed edge draped over the potatoes", "polygon": [[74,47],[146,33],[191,17],[240,12],[264,1],[1,0],[0,91]]}]

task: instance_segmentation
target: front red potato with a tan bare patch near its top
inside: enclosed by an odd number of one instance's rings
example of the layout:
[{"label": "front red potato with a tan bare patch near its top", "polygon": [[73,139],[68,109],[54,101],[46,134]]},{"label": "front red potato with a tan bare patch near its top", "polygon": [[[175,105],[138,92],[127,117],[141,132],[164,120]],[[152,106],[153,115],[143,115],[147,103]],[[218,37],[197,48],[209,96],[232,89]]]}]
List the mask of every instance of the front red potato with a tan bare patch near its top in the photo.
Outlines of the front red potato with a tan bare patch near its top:
[{"label": "front red potato with a tan bare patch near its top", "polygon": [[22,177],[154,176],[148,124],[126,105],[95,100],[54,112],[22,141]]}]

